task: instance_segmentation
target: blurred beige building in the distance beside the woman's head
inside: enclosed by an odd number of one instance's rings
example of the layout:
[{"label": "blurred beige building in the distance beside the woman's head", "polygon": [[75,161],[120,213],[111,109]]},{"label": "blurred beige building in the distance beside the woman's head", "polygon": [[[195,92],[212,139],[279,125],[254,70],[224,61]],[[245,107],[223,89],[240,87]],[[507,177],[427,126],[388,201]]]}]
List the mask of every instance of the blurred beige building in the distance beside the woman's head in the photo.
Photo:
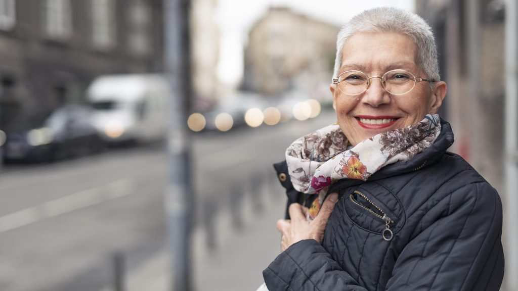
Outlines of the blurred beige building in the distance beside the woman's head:
[{"label": "blurred beige building in the distance beside the woman's head", "polygon": [[292,90],[328,96],[338,31],[289,8],[271,7],[250,30],[242,88],[265,96]]}]

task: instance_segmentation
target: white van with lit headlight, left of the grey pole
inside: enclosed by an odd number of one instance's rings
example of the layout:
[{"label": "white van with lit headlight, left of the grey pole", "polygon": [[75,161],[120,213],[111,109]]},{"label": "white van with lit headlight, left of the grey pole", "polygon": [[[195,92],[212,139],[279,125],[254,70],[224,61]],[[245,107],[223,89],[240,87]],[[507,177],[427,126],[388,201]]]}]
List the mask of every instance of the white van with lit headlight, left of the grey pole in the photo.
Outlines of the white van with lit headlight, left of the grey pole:
[{"label": "white van with lit headlight, left of the grey pole", "polygon": [[162,75],[106,75],[87,90],[92,124],[107,142],[150,142],[165,138],[168,100]]}]

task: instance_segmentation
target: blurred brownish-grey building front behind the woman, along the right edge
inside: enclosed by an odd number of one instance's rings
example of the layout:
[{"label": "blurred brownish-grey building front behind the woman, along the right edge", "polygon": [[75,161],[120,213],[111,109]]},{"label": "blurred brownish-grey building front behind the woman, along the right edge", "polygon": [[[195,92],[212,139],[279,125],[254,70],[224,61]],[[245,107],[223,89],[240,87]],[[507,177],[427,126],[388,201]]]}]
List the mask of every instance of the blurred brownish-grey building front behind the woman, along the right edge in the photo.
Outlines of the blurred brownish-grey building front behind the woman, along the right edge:
[{"label": "blurred brownish-grey building front behind the woman, along the right edge", "polygon": [[[514,0],[417,0],[416,9],[438,38],[452,147],[498,190],[503,205],[506,272],[500,290],[516,290],[516,26]],[[511,16],[511,17],[509,17]],[[513,60],[506,59],[510,57]],[[511,64],[511,65],[510,65]],[[507,96],[506,96],[507,95]],[[511,101],[512,100],[512,101]],[[514,104],[514,108],[513,108]],[[514,133],[514,134],[510,134]]]}]

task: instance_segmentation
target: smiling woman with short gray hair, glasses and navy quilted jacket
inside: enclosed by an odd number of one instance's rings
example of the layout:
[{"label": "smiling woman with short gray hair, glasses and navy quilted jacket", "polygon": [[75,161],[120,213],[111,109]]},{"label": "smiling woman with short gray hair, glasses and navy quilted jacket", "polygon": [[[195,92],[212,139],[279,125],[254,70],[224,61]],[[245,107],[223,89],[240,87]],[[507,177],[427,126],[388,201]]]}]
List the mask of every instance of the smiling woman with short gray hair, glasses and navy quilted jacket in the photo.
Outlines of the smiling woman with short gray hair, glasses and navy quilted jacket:
[{"label": "smiling woman with short gray hair, glasses and navy quilted jacket", "polygon": [[499,289],[501,202],[447,152],[446,89],[419,16],[376,8],[342,28],[338,122],[276,165],[291,220],[278,222],[283,252],[263,271],[270,291]]}]

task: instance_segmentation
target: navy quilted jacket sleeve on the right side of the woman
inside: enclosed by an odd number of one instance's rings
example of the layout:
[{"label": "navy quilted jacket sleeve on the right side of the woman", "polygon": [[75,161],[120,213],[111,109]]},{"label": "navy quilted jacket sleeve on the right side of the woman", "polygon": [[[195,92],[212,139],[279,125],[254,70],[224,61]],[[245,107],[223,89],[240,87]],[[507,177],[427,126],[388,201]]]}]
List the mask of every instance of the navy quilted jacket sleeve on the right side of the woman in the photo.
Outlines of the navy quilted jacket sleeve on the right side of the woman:
[{"label": "navy quilted jacket sleeve on the right side of the woman", "polygon": [[502,205],[487,182],[464,185],[422,219],[396,260],[387,290],[498,290]]}]

